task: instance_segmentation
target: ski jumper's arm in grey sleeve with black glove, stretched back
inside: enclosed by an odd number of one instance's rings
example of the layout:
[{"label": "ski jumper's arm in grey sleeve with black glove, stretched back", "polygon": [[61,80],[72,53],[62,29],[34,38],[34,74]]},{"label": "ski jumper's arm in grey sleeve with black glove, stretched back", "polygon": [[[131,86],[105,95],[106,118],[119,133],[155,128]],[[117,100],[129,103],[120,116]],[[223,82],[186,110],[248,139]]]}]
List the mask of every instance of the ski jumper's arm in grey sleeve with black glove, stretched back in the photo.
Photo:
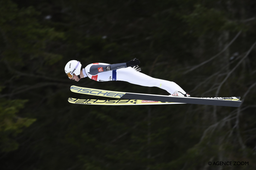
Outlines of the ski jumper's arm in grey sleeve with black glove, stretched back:
[{"label": "ski jumper's arm in grey sleeve with black glove, stretched back", "polygon": [[135,66],[138,64],[139,64],[139,60],[135,58],[131,61],[124,62],[124,63],[118,63],[118,64],[92,65],[90,67],[90,71],[88,73],[92,74],[92,75],[96,75],[100,72],[117,70],[120,68],[127,68],[127,67]]}]

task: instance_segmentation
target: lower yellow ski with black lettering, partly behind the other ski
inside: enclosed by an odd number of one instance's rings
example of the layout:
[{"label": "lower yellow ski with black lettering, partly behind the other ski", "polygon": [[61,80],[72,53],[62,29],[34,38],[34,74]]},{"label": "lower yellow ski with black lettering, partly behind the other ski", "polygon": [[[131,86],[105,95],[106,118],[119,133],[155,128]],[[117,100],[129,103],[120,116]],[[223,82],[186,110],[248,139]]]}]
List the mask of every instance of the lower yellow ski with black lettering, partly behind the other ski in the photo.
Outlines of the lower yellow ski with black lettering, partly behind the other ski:
[{"label": "lower yellow ski with black lettering, partly behind the other ski", "polygon": [[175,102],[159,102],[152,100],[122,99],[122,100],[98,100],[98,99],[75,99],[68,98],[68,102],[84,105],[166,105],[166,104],[186,104]]}]

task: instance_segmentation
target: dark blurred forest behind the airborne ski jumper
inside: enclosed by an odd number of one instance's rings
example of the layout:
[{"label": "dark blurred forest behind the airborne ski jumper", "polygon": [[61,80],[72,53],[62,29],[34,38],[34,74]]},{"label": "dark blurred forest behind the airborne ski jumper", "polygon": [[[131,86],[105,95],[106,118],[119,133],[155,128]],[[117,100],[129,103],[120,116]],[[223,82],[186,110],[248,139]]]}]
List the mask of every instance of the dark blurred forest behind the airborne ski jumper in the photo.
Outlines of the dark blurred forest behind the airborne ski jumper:
[{"label": "dark blurred forest behind the airborne ski jumper", "polygon": [[[256,169],[255,17],[254,0],[1,0],[0,169]],[[72,59],[135,57],[192,97],[241,96],[241,107],[67,102],[95,98],[71,85],[169,95],[64,72]]]}]

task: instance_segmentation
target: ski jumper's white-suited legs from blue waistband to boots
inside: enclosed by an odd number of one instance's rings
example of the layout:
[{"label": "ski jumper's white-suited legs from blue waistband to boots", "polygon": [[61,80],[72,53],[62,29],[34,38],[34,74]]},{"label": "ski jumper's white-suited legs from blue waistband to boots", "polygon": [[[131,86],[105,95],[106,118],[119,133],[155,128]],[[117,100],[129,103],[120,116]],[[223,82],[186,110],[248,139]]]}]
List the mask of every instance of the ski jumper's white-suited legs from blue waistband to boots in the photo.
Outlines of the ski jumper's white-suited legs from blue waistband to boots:
[{"label": "ski jumper's white-suited legs from blue waistband to boots", "polygon": [[133,68],[122,68],[117,70],[117,80],[127,81],[132,84],[137,84],[147,87],[159,87],[173,94],[174,91],[179,91],[186,94],[186,92],[176,83],[167,80],[161,80],[150,77],[141,72],[135,71]]}]

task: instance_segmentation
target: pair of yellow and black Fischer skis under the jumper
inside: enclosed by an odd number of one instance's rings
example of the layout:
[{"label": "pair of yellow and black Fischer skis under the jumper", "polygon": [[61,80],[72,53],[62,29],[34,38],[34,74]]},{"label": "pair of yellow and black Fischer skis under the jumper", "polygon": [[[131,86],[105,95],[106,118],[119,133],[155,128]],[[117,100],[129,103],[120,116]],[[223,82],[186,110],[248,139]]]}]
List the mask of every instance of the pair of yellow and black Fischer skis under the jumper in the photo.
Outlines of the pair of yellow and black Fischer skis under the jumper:
[{"label": "pair of yellow and black Fischer skis under the jumper", "polygon": [[180,97],[164,96],[141,93],[126,93],[109,90],[99,90],[87,87],[71,86],[70,90],[74,93],[81,93],[93,96],[118,98],[118,100],[98,100],[98,99],[74,99],[69,98],[68,102],[86,105],[166,105],[166,104],[198,104],[239,107],[241,105],[240,97]]}]

